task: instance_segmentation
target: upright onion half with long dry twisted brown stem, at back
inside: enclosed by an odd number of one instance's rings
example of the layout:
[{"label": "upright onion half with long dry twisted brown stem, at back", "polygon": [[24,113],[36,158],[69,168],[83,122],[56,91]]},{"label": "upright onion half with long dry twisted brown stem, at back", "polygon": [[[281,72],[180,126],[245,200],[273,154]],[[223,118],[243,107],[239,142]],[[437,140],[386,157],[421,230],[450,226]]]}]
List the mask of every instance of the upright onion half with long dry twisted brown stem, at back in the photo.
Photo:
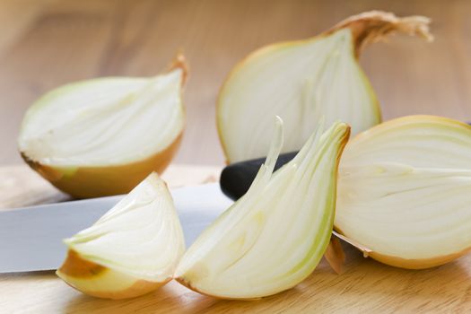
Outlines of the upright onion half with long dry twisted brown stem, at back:
[{"label": "upright onion half with long dry twisted brown stem, at back", "polygon": [[432,39],[430,20],[369,12],[305,40],[277,43],[245,57],[228,75],[217,102],[219,136],[228,162],[262,157],[284,120],[283,152],[297,151],[320,117],[352,126],[353,135],[378,124],[379,104],[358,64],[367,44],[391,32]]}]

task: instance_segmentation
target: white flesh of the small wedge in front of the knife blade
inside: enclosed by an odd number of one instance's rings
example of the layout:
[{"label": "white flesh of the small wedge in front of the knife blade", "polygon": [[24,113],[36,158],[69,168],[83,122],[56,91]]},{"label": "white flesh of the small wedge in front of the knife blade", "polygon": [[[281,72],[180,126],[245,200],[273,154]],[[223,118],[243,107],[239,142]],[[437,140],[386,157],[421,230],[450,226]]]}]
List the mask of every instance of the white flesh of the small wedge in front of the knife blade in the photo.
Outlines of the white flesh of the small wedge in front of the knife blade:
[{"label": "white flesh of the small wedge in front of the knife blade", "polygon": [[65,244],[83,259],[157,283],[172,277],[185,251],[170,192],[155,173]]}]

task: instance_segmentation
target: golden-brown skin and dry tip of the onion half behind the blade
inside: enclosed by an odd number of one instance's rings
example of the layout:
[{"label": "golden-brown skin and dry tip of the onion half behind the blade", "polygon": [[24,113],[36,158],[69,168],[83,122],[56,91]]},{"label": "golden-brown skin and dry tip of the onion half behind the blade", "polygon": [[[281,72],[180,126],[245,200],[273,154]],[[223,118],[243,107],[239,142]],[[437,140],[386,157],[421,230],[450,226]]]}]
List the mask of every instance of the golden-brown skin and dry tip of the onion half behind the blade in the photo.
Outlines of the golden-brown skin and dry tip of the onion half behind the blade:
[{"label": "golden-brown skin and dry tip of the onion half behind the blade", "polygon": [[[188,80],[188,63],[182,54],[177,54],[168,67],[167,72],[180,69],[181,88]],[[183,99],[183,91],[180,90],[180,100]],[[60,167],[34,161],[26,153],[20,151],[22,159],[47,179],[54,187],[64,191],[74,198],[91,198],[100,196],[114,196],[126,194],[135,188],[139,182],[144,180],[151,172],[161,174],[170,164],[179,150],[185,131],[186,112],[183,110],[183,127],[179,135],[165,149],[144,159],[110,166],[77,166]]]}]

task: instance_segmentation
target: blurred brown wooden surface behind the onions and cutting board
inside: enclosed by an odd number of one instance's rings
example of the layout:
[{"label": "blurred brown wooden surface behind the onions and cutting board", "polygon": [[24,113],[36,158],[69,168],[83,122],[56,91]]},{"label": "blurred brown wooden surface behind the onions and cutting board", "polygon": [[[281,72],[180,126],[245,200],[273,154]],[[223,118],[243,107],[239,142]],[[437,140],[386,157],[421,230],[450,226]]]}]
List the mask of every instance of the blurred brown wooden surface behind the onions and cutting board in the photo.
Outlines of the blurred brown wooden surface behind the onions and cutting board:
[{"label": "blurred brown wooden surface behind the onions and cutting board", "polygon": [[177,161],[222,164],[214,104],[231,66],[255,48],[308,38],[371,9],[430,16],[436,38],[397,36],[362,55],[384,118],[471,120],[471,1],[0,0],[0,164],[21,162],[22,115],[43,92],[96,76],[156,74],[180,48],[191,76]]}]

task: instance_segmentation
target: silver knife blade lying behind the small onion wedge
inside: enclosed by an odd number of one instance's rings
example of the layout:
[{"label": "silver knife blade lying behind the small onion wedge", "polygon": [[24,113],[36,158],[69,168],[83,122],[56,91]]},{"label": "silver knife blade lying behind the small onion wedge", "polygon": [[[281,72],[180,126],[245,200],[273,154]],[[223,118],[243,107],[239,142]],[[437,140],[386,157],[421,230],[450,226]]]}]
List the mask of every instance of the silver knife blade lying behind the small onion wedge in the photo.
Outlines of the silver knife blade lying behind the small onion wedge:
[{"label": "silver knife blade lying behind the small onion wedge", "polygon": [[[217,183],[170,190],[187,246],[232,201]],[[96,222],[123,196],[109,196],[0,212],[0,273],[57,269],[63,239]]]}]

